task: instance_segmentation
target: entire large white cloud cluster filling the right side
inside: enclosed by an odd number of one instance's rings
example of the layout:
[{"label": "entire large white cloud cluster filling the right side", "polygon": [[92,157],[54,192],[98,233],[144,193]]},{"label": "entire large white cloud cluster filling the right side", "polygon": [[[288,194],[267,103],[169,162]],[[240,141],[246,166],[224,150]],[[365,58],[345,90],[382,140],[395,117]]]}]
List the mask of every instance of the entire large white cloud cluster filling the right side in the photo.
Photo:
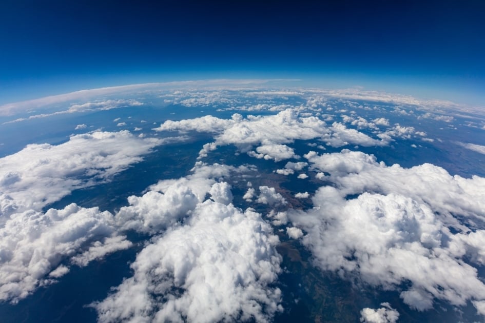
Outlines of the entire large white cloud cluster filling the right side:
[{"label": "entire large white cloud cluster filling the right side", "polygon": [[485,178],[388,167],[348,150],[305,157],[333,183],[317,190],[313,209],[289,213],[319,267],[398,290],[417,310],[438,298],[482,311],[485,285],[473,265],[484,264],[485,231],[470,226],[485,217]]}]

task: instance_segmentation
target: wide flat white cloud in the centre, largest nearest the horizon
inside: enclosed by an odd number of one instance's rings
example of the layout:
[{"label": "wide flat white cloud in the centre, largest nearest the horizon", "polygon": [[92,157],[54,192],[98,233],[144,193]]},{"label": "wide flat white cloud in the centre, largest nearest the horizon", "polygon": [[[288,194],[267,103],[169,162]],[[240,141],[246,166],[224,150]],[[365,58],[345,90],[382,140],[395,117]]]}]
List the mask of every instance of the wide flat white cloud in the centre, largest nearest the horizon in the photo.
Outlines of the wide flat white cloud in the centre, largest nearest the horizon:
[{"label": "wide flat white cloud in the centre, largest nearest the horizon", "polygon": [[[220,119],[214,116],[205,116],[180,121],[167,120],[157,131],[199,131],[215,133],[216,141],[204,147],[200,156],[206,156],[208,151],[218,146],[234,144],[242,152],[248,152],[254,146],[256,152],[250,155],[271,158],[271,153],[283,154],[281,159],[293,156],[293,150],[281,145],[293,143],[296,139],[320,138],[328,145],[340,147],[349,144],[361,146],[384,146],[389,138],[381,140],[371,138],[355,129],[348,129],[345,125],[334,123],[327,127],[325,122],[315,116],[300,116],[298,109],[286,109],[276,115],[253,116],[243,118],[234,114],[231,119]],[[279,151],[279,152],[278,152]],[[276,158],[275,158],[276,159]]]}]

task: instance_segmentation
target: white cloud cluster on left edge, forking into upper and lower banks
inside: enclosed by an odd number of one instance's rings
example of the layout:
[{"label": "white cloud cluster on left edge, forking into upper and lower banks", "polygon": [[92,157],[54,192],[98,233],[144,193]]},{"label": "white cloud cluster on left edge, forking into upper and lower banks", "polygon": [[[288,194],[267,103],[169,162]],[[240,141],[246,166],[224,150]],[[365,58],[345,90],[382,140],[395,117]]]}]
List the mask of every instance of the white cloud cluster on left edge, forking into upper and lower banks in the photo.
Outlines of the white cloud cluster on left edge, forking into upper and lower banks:
[{"label": "white cloud cluster on left edge, forking into upper and lower banks", "polygon": [[128,131],[93,132],[57,146],[29,145],[1,158],[0,300],[15,302],[49,284],[69,271],[67,261],[86,266],[129,248],[109,212],[75,204],[41,210],[74,189],[109,180],[161,143]]}]

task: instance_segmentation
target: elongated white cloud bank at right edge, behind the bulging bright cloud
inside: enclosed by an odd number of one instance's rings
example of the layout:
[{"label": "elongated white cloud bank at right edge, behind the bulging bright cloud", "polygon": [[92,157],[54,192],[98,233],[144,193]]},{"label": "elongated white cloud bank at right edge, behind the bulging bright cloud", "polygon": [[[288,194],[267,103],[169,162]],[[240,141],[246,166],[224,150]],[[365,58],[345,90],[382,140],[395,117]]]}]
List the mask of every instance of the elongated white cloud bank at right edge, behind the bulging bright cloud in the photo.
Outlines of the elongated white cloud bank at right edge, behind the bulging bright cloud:
[{"label": "elongated white cloud bank at right edge, behind the bulging bright cloud", "polygon": [[[409,169],[387,167],[374,155],[342,150],[341,153],[305,155],[314,169],[329,174],[325,179],[336,183],[346,195],[361,192],[397,193],[420,203],[432,205],[446,219],[447,225],[467,231],[452,214],[485,218],[485,178],[451,176],[443,168],[423,164]],[[465,219],[466,220],[466,219]]]}]

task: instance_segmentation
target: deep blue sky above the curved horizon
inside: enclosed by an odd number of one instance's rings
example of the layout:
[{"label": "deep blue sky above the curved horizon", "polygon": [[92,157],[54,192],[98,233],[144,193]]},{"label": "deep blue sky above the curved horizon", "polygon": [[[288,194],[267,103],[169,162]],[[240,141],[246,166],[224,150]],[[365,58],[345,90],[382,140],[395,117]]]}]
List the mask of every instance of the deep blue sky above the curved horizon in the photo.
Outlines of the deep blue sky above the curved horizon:
[{"label": "deep blue sky above the curved horizon", "polygon": [[298,77],[485,106],[485,1],[0,3],[0,104],[99,86]]}]

